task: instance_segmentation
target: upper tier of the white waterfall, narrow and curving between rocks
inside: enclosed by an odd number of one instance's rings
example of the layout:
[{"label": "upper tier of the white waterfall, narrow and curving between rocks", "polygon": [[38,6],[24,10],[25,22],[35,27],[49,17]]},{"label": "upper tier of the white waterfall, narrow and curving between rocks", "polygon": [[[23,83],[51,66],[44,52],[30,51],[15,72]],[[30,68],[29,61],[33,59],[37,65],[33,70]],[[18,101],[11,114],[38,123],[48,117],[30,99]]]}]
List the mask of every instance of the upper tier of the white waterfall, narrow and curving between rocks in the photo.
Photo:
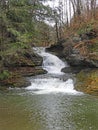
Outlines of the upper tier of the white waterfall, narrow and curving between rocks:
[{"label": "upper tier of the white waterfall, narrow and curving between rocks", "polygon": [[38,48],[36,52],[43,57],[43,68],[51,74],[63,74],[61,69],[66,67],[63,61],[61,61],[57,56],[45,52],[45,48]]}]

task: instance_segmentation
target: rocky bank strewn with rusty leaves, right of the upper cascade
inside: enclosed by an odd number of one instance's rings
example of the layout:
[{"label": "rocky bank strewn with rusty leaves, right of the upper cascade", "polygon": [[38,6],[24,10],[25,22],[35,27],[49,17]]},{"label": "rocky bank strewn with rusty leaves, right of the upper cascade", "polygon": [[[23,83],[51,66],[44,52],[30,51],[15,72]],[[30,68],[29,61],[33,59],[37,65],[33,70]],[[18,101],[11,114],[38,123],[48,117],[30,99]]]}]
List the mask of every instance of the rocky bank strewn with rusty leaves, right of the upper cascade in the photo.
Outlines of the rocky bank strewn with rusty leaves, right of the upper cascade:
[{"label": "rocky bank strewn with rusty leaves, right of the upper cascade", "polygon": [[56,52],[74,67],[98,67],[98,30],[66,38],[52,45],[47,51]]}]

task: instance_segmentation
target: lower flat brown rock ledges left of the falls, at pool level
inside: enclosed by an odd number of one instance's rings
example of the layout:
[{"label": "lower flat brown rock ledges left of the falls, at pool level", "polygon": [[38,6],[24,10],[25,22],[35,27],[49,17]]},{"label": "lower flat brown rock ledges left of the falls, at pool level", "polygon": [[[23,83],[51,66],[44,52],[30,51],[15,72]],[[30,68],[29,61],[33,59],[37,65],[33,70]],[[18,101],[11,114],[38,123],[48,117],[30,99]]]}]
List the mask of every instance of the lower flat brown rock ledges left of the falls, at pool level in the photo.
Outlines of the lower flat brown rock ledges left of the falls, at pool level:
[{"label": "lower flat brown rock ledges left of the falls, at pool level", "polygon": [[9,72],[11,75],[9,75],[8,78],[0,80],[0,89],[2,87],[8,88],[30,86],[31,82],[27,80],[27,77],[47,73],[41,67],[12,67],[9,68]]}]

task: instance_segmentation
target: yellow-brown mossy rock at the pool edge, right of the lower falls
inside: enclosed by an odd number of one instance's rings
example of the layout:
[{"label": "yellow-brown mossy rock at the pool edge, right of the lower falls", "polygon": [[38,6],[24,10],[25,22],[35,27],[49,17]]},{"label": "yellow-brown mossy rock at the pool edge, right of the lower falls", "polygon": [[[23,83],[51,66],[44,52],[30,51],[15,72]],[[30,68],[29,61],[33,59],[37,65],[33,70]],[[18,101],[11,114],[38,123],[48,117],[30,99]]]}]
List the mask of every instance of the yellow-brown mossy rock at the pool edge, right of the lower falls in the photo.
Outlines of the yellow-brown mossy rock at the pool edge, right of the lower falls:
[{"label": "yellow-brown mossy rock at the pool edge, right of the lower falls", "polygon": [[77,74],[76,89],[98,95],[98,70],[84,70]]}]

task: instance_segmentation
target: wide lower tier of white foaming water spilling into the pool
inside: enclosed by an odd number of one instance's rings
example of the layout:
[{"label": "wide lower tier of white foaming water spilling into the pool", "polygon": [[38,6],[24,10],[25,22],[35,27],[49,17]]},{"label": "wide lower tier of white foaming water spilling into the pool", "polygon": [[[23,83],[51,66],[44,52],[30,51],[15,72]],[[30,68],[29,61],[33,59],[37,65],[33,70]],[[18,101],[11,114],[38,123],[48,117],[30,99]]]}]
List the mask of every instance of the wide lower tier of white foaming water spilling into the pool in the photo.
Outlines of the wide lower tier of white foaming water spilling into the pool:
[{"label": "wide lower tier of white foaming water spilling into the pool", "polygon": [[68,79],[66,82],[60,79],[36,79],[32,81],[31,86],[26,88],[33,91],[35,94],[47,94],[47,93],[67,93],[67,94],[79,94],[74,90],[73,80]]}]

